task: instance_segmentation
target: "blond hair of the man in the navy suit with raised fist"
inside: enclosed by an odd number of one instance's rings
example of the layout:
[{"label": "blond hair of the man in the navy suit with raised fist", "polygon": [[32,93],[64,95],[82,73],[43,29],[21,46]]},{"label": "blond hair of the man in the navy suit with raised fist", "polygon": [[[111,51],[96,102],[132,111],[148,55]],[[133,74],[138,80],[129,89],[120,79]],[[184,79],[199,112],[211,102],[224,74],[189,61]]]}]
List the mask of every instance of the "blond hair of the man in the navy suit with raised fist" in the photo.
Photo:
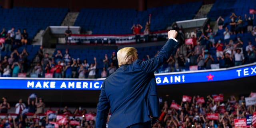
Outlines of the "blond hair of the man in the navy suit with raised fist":
[{"label": "blond hair of the man in the navy suit with raised fist", "polygon": [[118,66],[131,64],[132,58],[135,57],[137,50],[133,47],[125,47],[117,52]]}]

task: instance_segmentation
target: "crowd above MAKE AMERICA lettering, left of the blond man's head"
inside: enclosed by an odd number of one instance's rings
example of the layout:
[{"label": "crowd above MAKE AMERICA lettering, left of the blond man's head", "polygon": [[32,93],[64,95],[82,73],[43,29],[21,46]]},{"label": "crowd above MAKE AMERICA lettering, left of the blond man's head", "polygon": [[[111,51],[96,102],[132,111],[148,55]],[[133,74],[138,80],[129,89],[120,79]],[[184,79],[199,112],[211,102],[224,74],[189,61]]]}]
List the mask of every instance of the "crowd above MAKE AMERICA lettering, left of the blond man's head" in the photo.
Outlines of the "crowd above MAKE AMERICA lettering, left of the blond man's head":
[{"label": "crowd above MAKE AMERICA lettering, left of the blond man's head", "polygon": [[98,72],[97,61],[102,61],[103,70],[100,77],[105,78],[118,67],[115,52],[112,53],[110,58],[105,54],[102,60],[97,60],[94,57],[94,62],[91,64],[88,64],[86,59],[72,58],[68,49],[65,50],[65,54],[57,50],[57,53],[50,58],[48,53],[43,53],[41,46],[38,55],[40,62],[34,67],[34,73],[38,77],[45,77],[46,73],[50,73],[54,74],[54,78],[96,78],[96,72]]}]

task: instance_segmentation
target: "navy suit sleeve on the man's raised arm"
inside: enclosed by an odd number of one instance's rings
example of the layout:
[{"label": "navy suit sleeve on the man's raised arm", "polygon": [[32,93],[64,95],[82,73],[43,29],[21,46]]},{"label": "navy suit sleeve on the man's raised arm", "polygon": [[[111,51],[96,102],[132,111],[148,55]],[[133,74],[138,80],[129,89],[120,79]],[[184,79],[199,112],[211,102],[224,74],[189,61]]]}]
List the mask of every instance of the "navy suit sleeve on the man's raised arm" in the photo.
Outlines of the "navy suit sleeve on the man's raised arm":
[{"label": "navy suit sleeve on the man's raised arm", "polygon": [[174,52],[177,47],[178,47],[178,42],[176,42],[173,39],[169,39],[166,42],[166,44],[162,47],[162,49],[160,50],[157,56],[155,56],[150,60],[140,61],[138,62],[138,65],[146,73],[154,72],[157,68],[162,66],[162,64],[164,64],[164,62],[168,60],[172,52]]}]

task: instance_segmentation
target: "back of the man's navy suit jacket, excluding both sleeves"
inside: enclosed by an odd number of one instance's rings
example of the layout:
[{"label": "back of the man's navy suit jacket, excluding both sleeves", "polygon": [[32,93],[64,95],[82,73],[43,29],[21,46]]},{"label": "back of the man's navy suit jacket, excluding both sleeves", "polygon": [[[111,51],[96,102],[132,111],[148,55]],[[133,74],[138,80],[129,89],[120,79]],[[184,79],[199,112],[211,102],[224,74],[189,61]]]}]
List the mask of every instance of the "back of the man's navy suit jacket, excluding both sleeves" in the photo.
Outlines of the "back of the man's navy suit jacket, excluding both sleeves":
[{"label": "back of the man's navy suit jacket, excluding both sleeves", "polygon": [[[157,98],[154,73],[146,73],[136,60],[130,65],[122,65],[105,81],[105,92],[111,106],[111,118],[108,122],[113,128],[138,122],[150,121],[150,98]],[[146,108],[143,108],[147,106]],[[160,110],[158,104],[154,108]],[[159,116],[159,112],[155,112]],[[122,115],[122,118],[120,118]],[[124,121],[126,120],[126,121]]]}]

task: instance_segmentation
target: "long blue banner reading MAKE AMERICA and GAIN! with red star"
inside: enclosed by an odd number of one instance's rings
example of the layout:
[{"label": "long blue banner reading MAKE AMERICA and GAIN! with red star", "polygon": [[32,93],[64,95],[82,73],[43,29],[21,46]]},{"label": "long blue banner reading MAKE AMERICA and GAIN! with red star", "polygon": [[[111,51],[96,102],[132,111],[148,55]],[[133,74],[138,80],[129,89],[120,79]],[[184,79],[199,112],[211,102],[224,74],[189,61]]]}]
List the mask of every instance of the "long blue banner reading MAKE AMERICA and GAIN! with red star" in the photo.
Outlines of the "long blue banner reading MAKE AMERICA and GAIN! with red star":
[{"label": "long blue banner reading MAKE AMERICA and GAIN! with red star", "polygon": [[[216,82],[256,75],[256,64],[218,70],[156,74],[157,85]],[[100,90],[104,79],[0,78],[0,89]]]}]

